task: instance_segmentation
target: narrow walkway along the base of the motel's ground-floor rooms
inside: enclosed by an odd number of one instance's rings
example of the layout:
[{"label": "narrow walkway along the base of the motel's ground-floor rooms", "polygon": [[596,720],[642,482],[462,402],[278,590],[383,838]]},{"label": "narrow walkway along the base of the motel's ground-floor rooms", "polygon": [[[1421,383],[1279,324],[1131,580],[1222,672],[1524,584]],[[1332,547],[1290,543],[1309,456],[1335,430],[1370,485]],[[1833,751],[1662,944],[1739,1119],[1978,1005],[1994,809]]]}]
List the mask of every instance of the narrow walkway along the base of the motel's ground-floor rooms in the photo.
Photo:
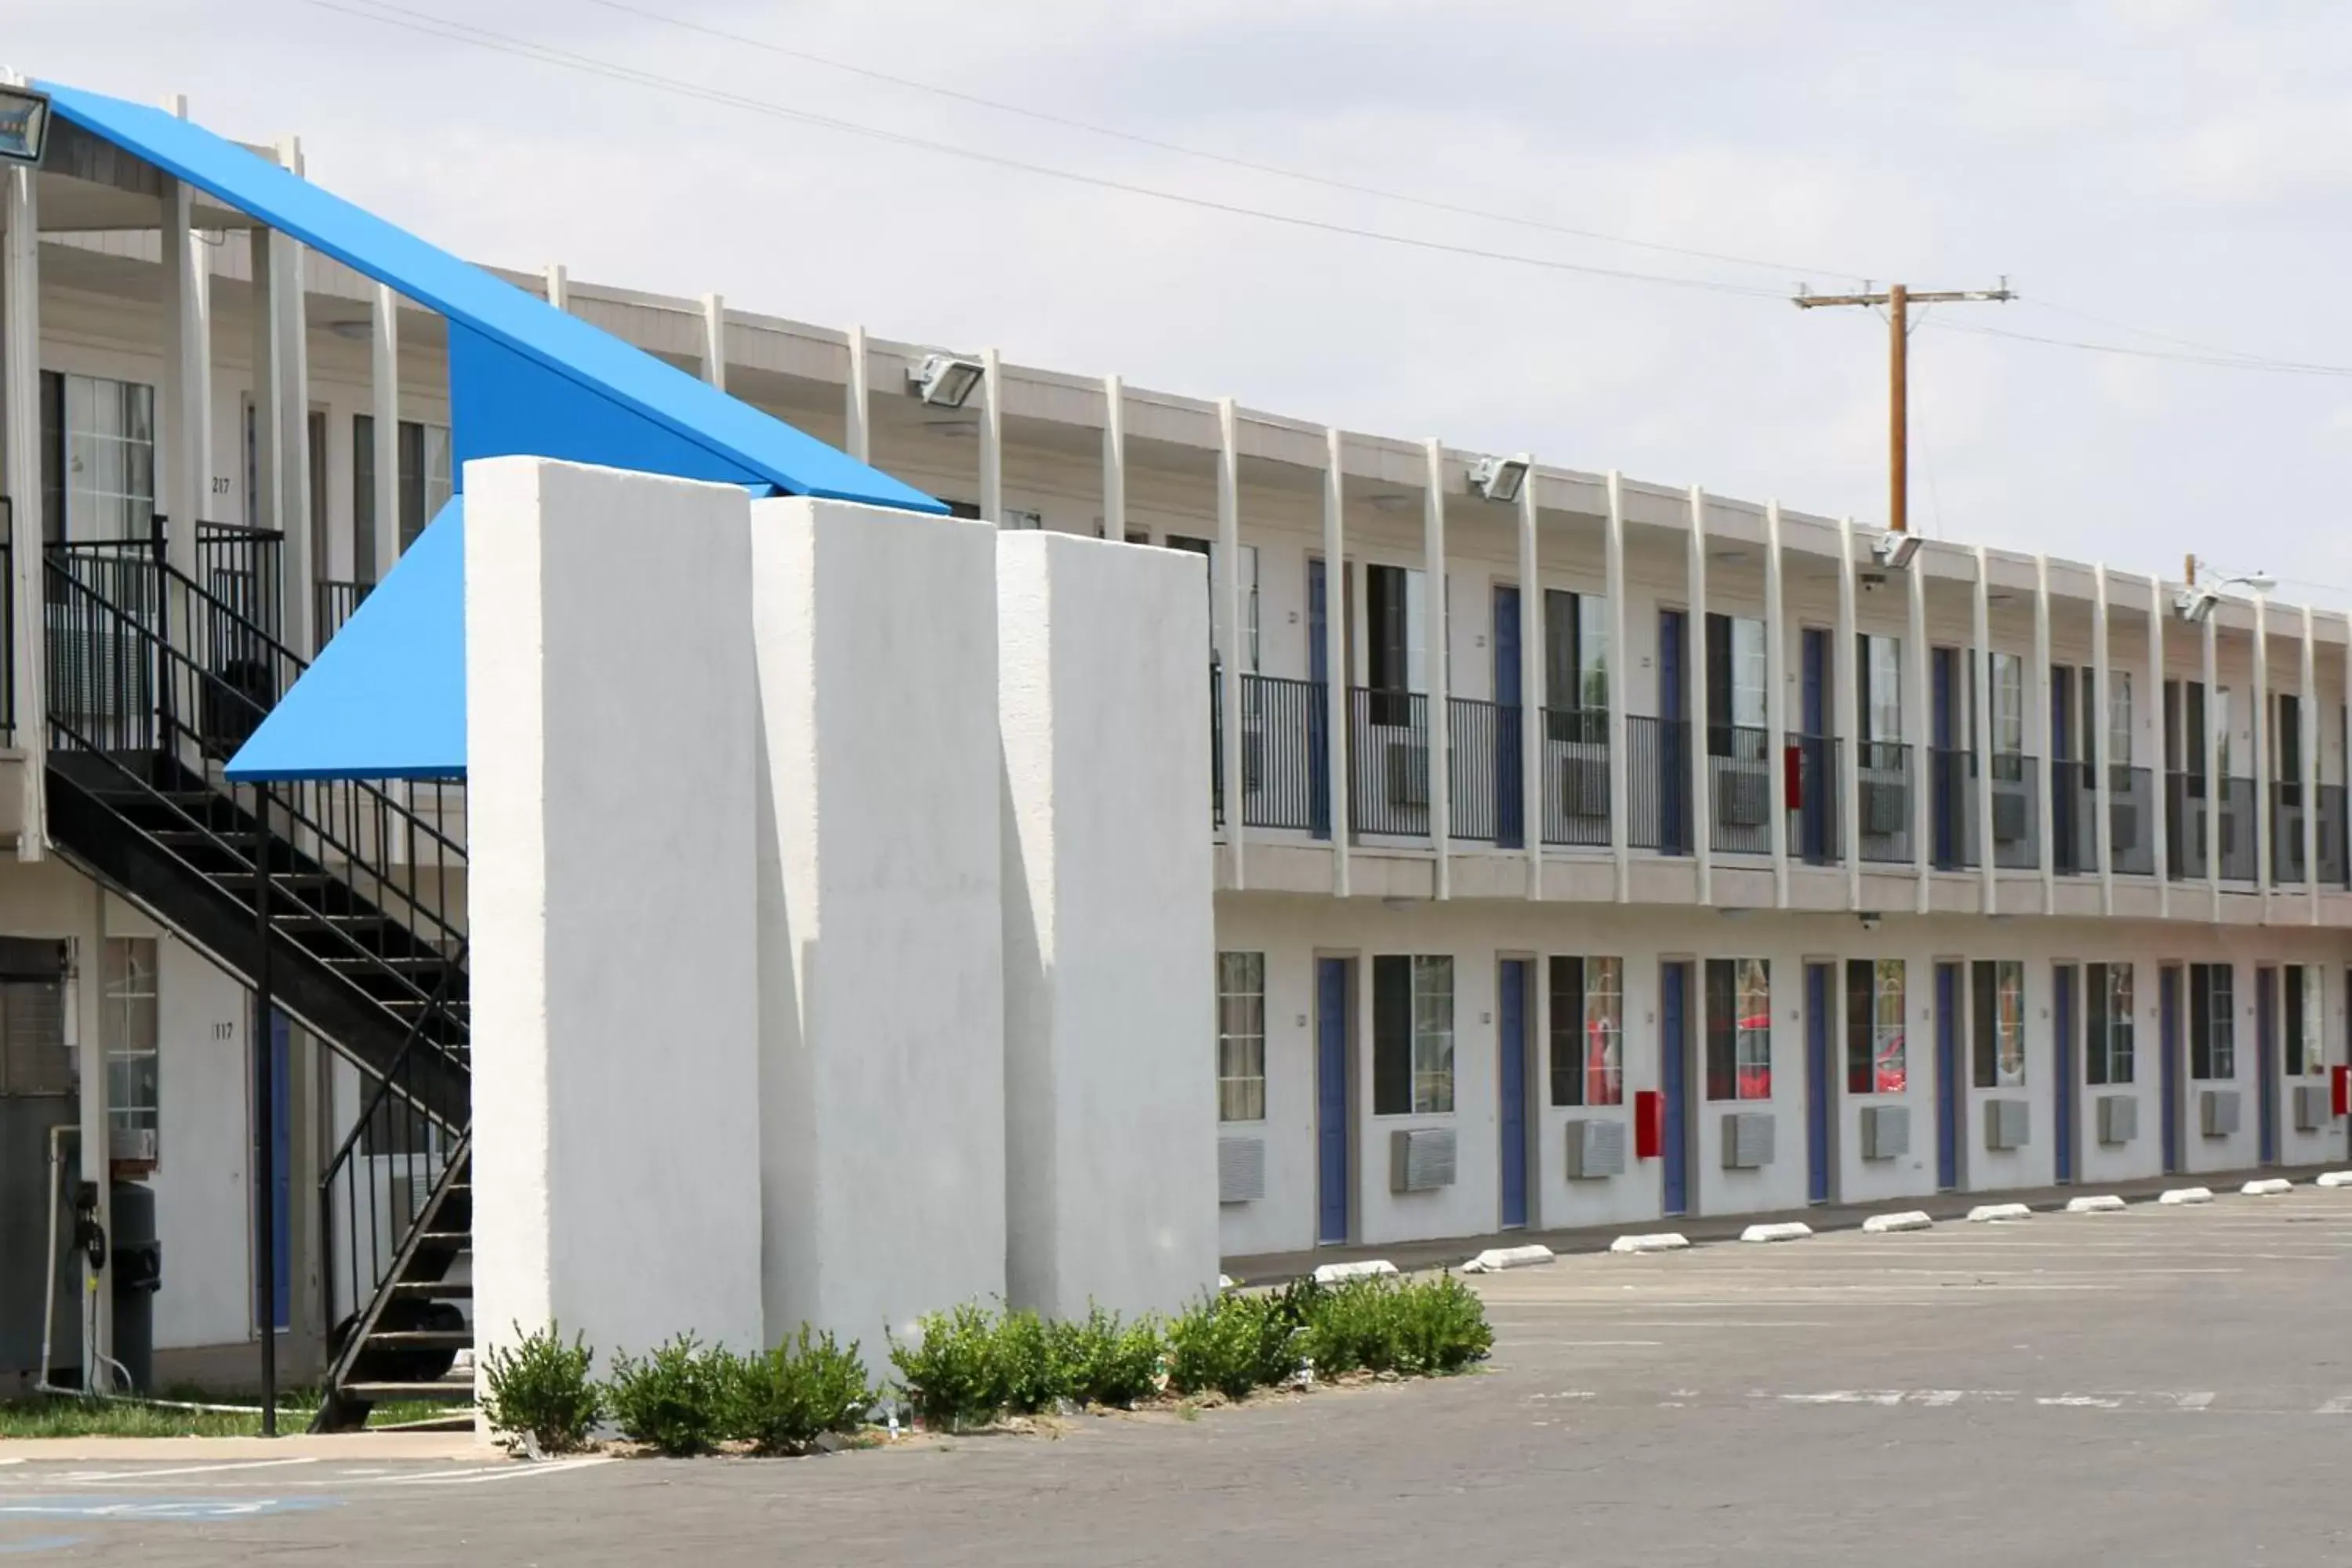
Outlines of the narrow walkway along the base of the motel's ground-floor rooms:
[{"label": "narrow walkway along the base of the motel's ground-floor rooms", "polygon": [[2284,1175],[2307,1182],[2321,1171],[2343,1166],[2260,1166],[2253,1171],[2197,1171],[2192,1175],[2150,1175],[2129,1182],[2074,1182],[2070,1187],[2025,1187],[2018,1192],[1938,1192],[1933,1197],[1879,1199],[1872,1204],[1816,1204],[1809,1208],[1780,1208],[1773,1213],[1724,1213],[1679,1215],[1651,1220],[1618,1220],[1611,1225],[1576,1225],[1569,1229],[1505,1229],[1486,1237],[1451,1237],[1444,1241],[1381,1241],[1367,1246],[1317,1246],[1296,1253],[1258,1253],[1251,1258],[1228,1258],[1225,1274],[1249,1286],[1277,1286],[1301,1274],[1312,1274],[1324,1262],[1357,1262],[1385,1258],[1399,1269],[1456,1267],[1491,1246],[1543,1244],[1555,1253],[1602,1253],[1625,1234],[1672,1229],[1693,1246],[1703,1241],[1738,1241],[1750,1225],[1804,1220],[1813,1229],[1860,1229],[1875,1213],[1924,1211],[1936,1220],[1962,1220],[1980,1204],[2025,1204],[2027,1208],[2065,1208],[2067,1199],[2091,1192],[2112,1192],[2124,1201],[2152,1201],[2171,1187],[2211,1187],[2216,1197],[2237,1192],[2239,1185],[2258,1178]]}]

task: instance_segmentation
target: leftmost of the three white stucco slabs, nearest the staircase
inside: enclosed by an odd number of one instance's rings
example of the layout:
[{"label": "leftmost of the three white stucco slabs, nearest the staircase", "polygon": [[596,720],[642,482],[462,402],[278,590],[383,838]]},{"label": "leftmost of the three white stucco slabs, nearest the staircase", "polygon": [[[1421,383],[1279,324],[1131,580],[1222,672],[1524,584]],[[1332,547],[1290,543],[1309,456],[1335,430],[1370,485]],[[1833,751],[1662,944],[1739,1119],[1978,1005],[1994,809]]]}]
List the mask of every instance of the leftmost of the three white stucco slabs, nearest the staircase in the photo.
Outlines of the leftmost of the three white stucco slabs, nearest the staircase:
[{"label": "leftmost of the three white stucco slabs, nearest the staircase", "polygon": [[466,470],[489,1342],[550,1319],[604,1354],[764,1338],[748,508],[539,458]]}]

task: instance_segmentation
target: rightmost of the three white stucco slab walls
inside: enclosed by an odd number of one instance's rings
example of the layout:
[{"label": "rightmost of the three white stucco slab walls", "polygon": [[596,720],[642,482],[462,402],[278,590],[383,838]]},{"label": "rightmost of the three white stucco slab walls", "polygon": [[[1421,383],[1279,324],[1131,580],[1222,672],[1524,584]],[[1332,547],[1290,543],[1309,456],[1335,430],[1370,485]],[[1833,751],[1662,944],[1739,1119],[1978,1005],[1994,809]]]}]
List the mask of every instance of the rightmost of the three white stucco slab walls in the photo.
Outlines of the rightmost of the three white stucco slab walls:
[{"label": "rightmost of the three white stucco slab walls", "polygon": [[1216,1286],[1200,583],[1174,550],[997,541],[1007,1288],[1049,1316]]}]

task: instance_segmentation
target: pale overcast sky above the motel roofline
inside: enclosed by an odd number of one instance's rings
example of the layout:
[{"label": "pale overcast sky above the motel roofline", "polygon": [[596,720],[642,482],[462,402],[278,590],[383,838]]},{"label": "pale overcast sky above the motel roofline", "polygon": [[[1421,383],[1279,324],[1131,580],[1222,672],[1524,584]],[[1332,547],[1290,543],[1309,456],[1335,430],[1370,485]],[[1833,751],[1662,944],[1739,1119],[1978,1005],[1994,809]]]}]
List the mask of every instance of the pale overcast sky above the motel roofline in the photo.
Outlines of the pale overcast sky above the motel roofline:
[{"label": "pale overcast sky above the motel roofline", "polygon": [[[1938,289],[2006,273],[2020,303],[1945,308],[1912,339],[1915,527],[2166,574],[2194,550],[2274,571],[2281,597],[2352,604],[2352,374],[1964,331],[2352,367],[2340,5],[400,5],[14,0],[0,47],[80,87],[186,92],[226,134],[299,132],[313,179],[480,261],[720,289],[753,310],[1865,522],[1886,512],[1886,331],[1778,296],[1799,280]],[[447,26],[435,16],[769,108],[419,31]],[[1552,228],[1044,125],[743,40]],[[1282,226],[811,118],[1764,296]]]}]

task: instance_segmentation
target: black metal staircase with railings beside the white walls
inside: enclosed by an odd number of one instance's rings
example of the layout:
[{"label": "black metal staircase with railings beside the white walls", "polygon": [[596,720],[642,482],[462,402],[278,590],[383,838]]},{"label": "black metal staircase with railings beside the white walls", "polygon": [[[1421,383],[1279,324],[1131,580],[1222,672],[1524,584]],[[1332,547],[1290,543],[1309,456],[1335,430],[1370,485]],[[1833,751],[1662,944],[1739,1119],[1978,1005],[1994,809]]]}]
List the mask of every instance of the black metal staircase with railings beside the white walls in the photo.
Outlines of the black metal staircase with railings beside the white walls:
[{"label": "black metal staircase with railings beside the white walls", "polygon": [[[470,1401],[473,1074],[463,790],[230,785],[221,764],[301,675],[275,623],[273,543],[200,538],[205,583],[155,541],[45,559],[49,837],[350,1067],[318,1192],[329,1368],[318,1429],[390,1399]],[[341,1121],[339,1121],[341,1124]]]}]

